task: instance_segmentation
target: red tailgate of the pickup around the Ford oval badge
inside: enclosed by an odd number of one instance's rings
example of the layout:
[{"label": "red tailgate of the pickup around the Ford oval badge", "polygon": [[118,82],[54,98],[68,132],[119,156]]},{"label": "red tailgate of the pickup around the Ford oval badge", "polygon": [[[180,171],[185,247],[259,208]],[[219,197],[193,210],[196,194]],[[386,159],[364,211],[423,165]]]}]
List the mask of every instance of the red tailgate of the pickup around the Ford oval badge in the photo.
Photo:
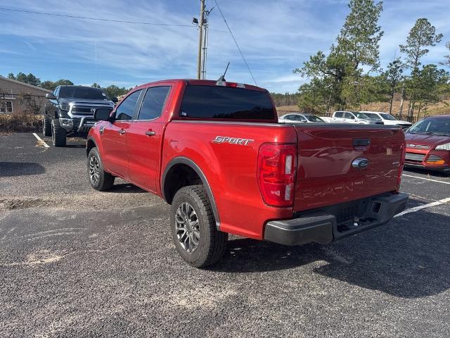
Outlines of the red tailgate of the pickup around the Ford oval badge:
[{"label": "red tailgate of the pickup around the Ford oval badge", "polygon": [[[296,125],[294,211],[321,208],[397,189],[404,133],[397,127]],[[354,168],[356,158],[368,159]],[[356,163],[355,163],[356,165]]]}]

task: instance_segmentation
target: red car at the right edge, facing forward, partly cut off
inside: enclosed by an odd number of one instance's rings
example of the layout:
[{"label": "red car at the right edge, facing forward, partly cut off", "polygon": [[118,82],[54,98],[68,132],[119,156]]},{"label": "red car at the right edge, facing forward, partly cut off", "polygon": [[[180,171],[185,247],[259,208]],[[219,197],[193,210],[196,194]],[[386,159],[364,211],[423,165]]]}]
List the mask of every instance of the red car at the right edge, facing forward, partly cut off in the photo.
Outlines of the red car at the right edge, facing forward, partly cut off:
[{"label": "red car at the right edge, facing forward, partly cut off", "polygon": [[450,171],[450,115],[429,116],[406,130],[405,165]]}]

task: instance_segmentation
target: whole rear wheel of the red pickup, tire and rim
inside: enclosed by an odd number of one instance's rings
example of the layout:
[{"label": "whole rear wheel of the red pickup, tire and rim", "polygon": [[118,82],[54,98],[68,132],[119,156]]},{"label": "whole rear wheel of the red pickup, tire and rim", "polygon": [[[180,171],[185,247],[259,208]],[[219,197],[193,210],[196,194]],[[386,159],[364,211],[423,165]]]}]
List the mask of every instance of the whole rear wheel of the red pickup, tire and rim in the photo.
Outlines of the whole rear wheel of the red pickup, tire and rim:
[{"label": "whole rear wheel of the red pickup, tire and rim", "polygon": [[228,234],[217,230],[210,200],[202,185],[183,187],[176,192],[170,228],[176,250],[195,268],[216,263],[225,252]]}]

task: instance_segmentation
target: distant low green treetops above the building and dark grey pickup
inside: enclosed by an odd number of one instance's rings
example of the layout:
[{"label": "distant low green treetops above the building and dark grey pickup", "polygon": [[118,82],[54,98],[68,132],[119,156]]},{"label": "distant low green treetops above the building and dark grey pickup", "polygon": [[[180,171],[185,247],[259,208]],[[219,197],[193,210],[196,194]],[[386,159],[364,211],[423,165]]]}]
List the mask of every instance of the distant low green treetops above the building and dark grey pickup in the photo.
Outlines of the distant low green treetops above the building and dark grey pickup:
[{"label": "distant low green treetops above the building and dark grey pickup", "polygon": [[[11,80],[25,82],[27,84],[32,84],[33,86],[49,89],[52,91],[55,90],[56,87],[61,86],[61,85],[73,85],[74,84],[72,81],[65,80],[65,79],[61,79],[61,80],[57,80],[57,81],[50,81],[50,80],[41,81],[41,79],[39,79],[39,77],[36,77],[32,73],[30,73],[28,75],[26,75],[24,73],[17,73],[16,75],[14,75],[13,73],[9,73],[8,78]],[[108,95],[109,98],[127,94],[127,92],[129,92],[129,90],[131,89],[131,88],[127,89],[125,87],[117,87],[115,84],[112,84],[108,87],[101,87],[99,84],[97,84],[95,82],[94,82],[94,84],[91,85],[91,87],[103,89],[103,92],[105,92],[105,94]]]}]

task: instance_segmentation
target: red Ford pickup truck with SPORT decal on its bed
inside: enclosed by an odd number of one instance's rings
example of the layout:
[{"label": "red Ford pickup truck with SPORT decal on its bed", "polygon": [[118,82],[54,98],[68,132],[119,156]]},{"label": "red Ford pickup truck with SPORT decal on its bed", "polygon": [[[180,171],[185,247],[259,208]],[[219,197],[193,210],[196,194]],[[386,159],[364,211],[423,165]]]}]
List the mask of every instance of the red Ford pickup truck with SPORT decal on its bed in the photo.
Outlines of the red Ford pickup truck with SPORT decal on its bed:
[{"label": "red Ford pickup truck with SPORT decal on its bed", "polygon": [[269,92],[248,84],[143,84],[95,118],[92,187],[122,177],[162,197],[176,249],[195,267],[218,261],[229,233],[329,243],[387,223],[408,199],[399,127],[281,124]]}]

